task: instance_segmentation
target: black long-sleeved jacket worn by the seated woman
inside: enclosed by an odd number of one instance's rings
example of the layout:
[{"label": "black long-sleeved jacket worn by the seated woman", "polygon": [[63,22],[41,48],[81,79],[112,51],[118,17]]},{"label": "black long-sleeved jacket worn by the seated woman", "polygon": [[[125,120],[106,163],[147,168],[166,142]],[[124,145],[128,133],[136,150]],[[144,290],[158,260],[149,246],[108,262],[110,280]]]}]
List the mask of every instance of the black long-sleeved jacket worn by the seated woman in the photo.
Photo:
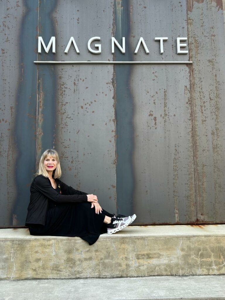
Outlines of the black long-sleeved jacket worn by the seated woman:
[{"label": "black long-sleeved jacket worn by the seated woman", "polygon": [[87,202],[87,193],[75,190],[64,182],[55,178],[57,186],[61,189],[61,194],[53,187],[48,177],[38,175],[34,178],[30,187],[30,203],[27,208],[25,226],[29,224],[45,224],[45,217],[48,208],[48,199],[55,202]]}]

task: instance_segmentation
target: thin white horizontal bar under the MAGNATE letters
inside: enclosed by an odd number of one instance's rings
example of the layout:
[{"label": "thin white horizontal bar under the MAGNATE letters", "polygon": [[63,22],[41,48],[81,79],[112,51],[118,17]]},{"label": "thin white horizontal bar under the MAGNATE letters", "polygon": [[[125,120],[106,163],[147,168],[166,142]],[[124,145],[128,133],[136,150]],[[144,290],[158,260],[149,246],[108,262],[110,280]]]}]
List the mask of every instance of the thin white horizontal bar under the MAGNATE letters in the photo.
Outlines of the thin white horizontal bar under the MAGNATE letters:
[{"label": "thin white horizontal bar under the MAGNATE letters", "polygon": [[35,64],[192,64],[192,61],[34,61]]}]

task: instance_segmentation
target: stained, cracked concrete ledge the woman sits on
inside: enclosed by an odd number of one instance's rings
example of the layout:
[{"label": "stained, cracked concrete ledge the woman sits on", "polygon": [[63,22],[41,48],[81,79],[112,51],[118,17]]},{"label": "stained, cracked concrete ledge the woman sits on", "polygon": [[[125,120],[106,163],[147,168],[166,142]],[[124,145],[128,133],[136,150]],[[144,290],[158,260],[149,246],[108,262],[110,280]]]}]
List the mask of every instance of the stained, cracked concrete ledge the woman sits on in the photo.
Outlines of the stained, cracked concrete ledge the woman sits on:
[{"label": "stained, cracked concrete ledge the woman sits on", "polygon": [[225,225],[130,226],[92,246],[1,229],[0,241],[1,279],[225,274]]}]

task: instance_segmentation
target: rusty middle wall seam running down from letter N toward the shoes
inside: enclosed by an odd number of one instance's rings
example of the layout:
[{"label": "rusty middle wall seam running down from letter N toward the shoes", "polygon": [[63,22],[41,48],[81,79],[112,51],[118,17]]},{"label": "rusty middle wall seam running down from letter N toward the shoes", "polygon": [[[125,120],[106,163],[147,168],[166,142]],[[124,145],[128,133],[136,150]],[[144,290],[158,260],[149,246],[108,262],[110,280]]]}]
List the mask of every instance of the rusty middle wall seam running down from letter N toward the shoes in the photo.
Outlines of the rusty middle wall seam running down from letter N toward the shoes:
[{"label": "rusty middle wall seam running down from letter N toward the shoes", "polygon": [[[115,3],[113,1],[113,37],[115,36],[115,11],[114,11]],[[113,61],[115,61],[115,52],[113,53]],[[114,124],[115,124],[115,163],[116,163],[116,180],[117,180],[117,147],[116,147],[116,66],[113,64],[113,100],[114,100]],[[116,184],[116,214],[117,214],[117,184]]]}]

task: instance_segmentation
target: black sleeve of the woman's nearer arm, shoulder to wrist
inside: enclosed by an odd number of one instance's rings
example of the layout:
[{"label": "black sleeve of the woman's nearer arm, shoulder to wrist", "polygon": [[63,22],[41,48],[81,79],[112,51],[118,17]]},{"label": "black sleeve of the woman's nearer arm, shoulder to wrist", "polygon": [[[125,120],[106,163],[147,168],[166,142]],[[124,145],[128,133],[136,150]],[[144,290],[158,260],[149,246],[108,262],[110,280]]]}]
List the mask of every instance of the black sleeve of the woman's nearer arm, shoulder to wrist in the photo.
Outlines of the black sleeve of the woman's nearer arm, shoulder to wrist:
[{"label": "black sleeve of the woman's nearer arm, shoulder to wrist", "polygon": [[[87,202],[88,197],[86,194],[72,194],[72,195],[62,195],[58,193],[49,183],[47,178],[37,176],[34,181],[34,188],[38,192],[41,192],[49,199],[55,202]],[[97,202],[97,201],[96,201]]]}]

